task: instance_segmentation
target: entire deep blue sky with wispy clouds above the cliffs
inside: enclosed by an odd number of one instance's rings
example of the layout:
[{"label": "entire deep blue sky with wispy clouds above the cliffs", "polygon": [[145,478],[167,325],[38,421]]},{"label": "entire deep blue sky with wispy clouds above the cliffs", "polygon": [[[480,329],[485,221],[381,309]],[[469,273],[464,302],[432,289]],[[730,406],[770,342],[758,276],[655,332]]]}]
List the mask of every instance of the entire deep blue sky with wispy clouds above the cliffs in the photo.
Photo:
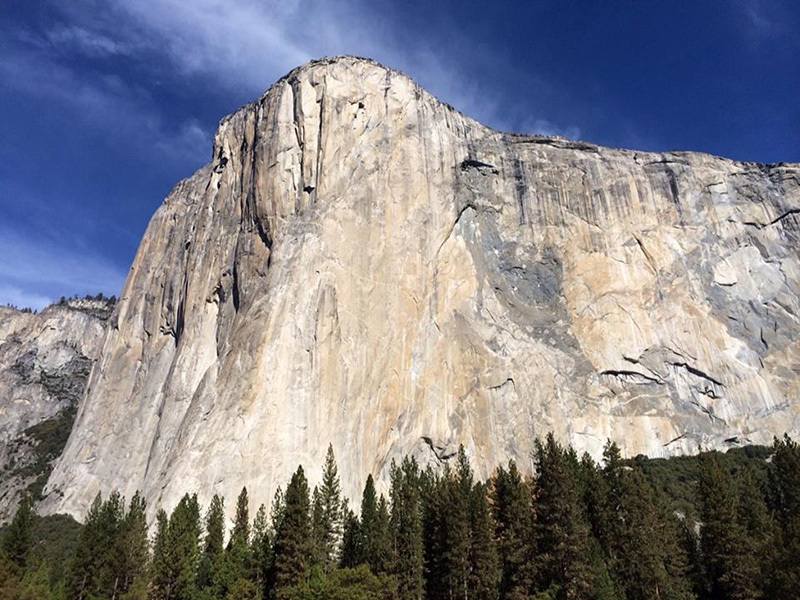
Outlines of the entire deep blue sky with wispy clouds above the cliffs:
[{"label": "entire deep blue sky with wispy clouds above the cliffs", "polygon": [[800,161],[795,0],[4,0],[0,304],[119,294],[219,119],[332,54],[501,129]]}]

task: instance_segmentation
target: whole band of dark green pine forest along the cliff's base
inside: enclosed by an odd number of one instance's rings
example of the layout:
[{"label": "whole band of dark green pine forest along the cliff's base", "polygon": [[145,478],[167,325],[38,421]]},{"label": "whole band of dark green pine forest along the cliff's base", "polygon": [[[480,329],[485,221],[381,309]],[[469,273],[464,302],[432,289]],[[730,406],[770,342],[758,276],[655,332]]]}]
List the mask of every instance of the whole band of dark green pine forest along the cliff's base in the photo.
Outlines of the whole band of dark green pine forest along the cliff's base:
[{"label": "whole band of dark green pine forest along the cliff's base", "polygon": [[[187,493],[152,535],[146,502],[95,499],[84,524],[24,500],[2,532],[0,599],[789,600],[800,589],[800,446],[788,437],[694,457],[603,460],[552,436],[534,475],[476,481],[452,464],[369,477],[358,514],[332,450],[318,487],[298,467],[270,510],[247,490]],[[230,530],[229,530],[230,529]]]}]

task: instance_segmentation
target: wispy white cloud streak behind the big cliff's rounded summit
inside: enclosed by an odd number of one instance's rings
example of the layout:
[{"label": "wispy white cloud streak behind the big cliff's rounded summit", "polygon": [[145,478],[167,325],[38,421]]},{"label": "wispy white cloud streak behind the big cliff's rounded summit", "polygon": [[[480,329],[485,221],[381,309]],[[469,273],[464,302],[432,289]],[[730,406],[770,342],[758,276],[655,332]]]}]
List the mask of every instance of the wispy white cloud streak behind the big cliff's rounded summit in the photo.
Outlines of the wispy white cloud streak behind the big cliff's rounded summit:
[{"label": "wispy white cloud streak behind the big cliff's rounded summit", "polygon": [[[440,39],[438,46],[421,33],[402,31],[400,37],[396,23],[359,0],[114,0],[107,5],[84,0],[68,6],[73,25],[59,28],[52,39],[87,55],[138,53],[158,68],[167,63],[182,77],[205,78],[209,85],[248,98],[312,58],[356,54],[409,73],[487,125],[519,129],[532,109],[507,106],[499,90],[470,78],[457,57],[474,50],[474,40],[457,31],[442,36],[446,41]],[[482,48],[476,54],[487,64],[505,62],[494,60],[492,53]],[[569,131],[568,126],[553,127]]]}]

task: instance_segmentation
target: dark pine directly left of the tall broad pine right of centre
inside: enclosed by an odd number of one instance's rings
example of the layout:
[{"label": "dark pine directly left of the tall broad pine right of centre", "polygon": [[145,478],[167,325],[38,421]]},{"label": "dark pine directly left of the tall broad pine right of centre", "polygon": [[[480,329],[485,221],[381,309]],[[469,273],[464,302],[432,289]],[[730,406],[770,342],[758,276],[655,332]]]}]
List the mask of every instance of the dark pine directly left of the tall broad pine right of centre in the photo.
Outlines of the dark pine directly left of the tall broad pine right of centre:
[{"label": "dark pine directly left of the tall broad pine right of centre", "polygon": [[497,551],[500,560],[500,598],[528,598],[532,585],[533,528],[531,492],[512,460],[498,467],[491,481]]}]

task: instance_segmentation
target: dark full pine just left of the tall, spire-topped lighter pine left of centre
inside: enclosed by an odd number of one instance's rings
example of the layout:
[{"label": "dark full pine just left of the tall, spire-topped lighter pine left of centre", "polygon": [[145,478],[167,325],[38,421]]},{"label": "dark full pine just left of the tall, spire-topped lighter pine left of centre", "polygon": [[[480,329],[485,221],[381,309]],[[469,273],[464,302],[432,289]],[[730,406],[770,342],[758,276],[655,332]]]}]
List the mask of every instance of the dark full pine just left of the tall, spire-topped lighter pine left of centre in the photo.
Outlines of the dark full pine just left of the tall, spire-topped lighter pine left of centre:
[{"label": "dark full pine just left of the tall, spire-topped lighter pine left of centre", "polygon": [[313,558],[311,515],[303,467],[298,467],[286,488],[285,505],[275,535],[276,598],[283,598],[288,589],[306,580]]}]

